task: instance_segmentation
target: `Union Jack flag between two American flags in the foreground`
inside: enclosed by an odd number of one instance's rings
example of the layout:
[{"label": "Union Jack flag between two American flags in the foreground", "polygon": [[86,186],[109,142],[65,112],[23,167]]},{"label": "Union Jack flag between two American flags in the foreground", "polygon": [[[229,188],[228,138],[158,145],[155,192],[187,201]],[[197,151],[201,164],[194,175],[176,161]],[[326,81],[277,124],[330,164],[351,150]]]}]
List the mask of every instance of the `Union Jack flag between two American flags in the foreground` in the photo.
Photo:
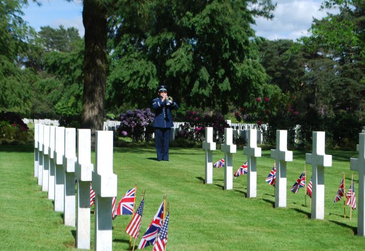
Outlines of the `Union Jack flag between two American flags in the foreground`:
[{"label": "Union Jack flag between two American flags in the foreground", "polygon": [[161,225],[162,225],[163,206],[164,206],[164,203],[162,202],[162,204],[160,205],[159,209],[157,210],[157,212],[155,214],[154,219],[150,223],[150,226],[147,228],[147,230],[143,234],[142,239],[139,242],[138,249],[142,249],[149,245],[155,244],[158,231],[160,230]]}]

